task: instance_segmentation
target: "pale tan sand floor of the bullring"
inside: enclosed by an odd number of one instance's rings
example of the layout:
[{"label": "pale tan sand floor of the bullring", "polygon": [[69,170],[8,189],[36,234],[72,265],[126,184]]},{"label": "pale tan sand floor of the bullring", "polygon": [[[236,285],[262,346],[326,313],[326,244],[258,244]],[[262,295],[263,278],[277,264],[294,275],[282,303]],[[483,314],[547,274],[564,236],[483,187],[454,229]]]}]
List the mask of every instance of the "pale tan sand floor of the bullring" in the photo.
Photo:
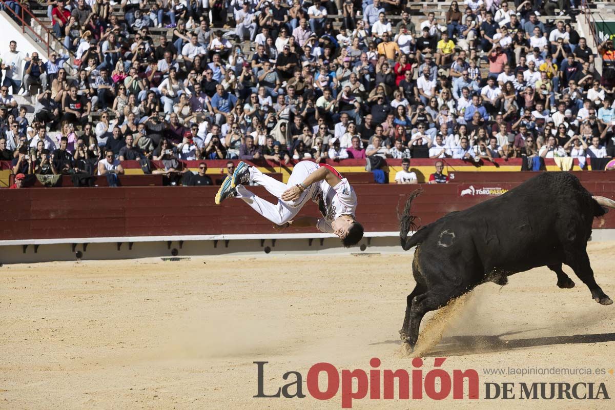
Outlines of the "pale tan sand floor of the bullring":
[{"label": "pale tan sand floor of the bullring", "polygon": [[[590,243],[598,283],[615,298],[615,243]],[[1,409],[306,409],[329,401],[256,399],[282,374],[407,369],[397,331],[413,288],[411,253],[50,262],[0,267]],[[480,286],[421,334],[423,357],[474,368],[484,382],[605,382],[615,375],[485,376],[485,368],[615,367],[615,305],[560,290],[546,268]],[[429,314],[427,318],[433,317]],[[426,321],[424,321],[425,324]],[[443,331],[440,344],[431,345]],[[431,336],[430,336],[431,335]],[[426,359],[425,369],[433,359]],[[613,408],[608,401],[356,400],[379,408]]]}]

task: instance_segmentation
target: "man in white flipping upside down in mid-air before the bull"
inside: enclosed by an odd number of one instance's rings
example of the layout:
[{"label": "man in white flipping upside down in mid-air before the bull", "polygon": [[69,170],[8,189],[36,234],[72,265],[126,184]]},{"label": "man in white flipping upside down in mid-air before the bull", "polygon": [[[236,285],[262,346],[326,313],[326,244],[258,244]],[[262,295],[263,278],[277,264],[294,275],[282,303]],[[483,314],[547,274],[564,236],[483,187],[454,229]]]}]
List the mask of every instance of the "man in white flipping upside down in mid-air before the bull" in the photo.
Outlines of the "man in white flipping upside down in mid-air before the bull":
[{"label": "man in white flipping upside down in mid-air before the bull", "polygon": [[[264,186],[278,199],[277,205],[268,202],[244,187],[254,182]],[[344,246],[355,245],[363,237],[363,226],[355,219],[357,195],[335,168],[326,164],[301,161],[295,165],[288,184],[264,175],[256,167],[240,162],[233,175],[224,179],[215,202],[237,197],[256,212],[276,224],[277,229],[293,226],[315,226],[319,231],[336,234]],[[322,218],[295,218],[308,200],[318,203]]]}]

